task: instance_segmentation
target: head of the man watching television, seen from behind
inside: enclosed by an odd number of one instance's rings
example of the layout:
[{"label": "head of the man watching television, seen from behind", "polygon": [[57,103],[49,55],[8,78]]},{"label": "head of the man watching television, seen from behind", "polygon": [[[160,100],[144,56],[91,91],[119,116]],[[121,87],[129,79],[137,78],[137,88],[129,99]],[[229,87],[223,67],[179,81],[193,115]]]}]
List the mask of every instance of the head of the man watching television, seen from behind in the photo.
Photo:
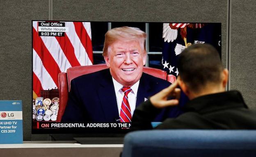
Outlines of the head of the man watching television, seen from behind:
[{"label": "head of the man watching television, seen from behind", "polygon": [[208,44],[195,44],[185,49],[178,59],[179,85],[190,99],[224,92],[228,71],[222,68],[217,50]]}]

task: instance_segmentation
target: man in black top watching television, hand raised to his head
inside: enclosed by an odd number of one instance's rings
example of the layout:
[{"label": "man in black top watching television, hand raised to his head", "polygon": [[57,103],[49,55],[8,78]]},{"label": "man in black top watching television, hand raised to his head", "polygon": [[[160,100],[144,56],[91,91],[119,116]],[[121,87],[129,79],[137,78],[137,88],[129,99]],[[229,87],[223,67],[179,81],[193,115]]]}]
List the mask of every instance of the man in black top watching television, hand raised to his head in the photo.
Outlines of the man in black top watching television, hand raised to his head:
[{"label": "man in black top watching television, hand raised to his head", "polygon": [[133,130],[152,129],[151,121],[160,108],[177,105],[181,92],[178,85],[190,99],[185,113],[165,119],[156,129],[256,129],[256,112],[248,109],[240,92],[225,92],[228,70],[222,68],[213,46],[195,44],[185,49],[178,59],[178,70],[174,84],[135,110]]}]

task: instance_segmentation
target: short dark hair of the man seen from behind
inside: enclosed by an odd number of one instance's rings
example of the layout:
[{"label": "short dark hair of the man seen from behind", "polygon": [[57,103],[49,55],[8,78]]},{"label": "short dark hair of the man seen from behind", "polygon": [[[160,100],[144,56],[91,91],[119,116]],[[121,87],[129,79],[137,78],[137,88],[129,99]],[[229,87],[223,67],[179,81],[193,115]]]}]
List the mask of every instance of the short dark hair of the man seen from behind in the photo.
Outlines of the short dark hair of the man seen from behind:
[{"label": "short dark hair of the man seen from behind", "polygon": [[181,80],[194,92],[199,92],[206,83],[218,83],[222,70],[219,53],[209,44],[194,44],[178,58]]}]

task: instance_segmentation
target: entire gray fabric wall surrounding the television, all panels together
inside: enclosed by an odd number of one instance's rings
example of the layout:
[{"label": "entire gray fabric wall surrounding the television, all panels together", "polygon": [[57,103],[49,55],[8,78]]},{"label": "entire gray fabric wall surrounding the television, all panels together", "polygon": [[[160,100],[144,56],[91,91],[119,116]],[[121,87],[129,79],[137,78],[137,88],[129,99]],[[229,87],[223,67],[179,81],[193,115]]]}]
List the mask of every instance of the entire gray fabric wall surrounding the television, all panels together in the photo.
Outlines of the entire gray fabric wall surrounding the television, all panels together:
[{"label": "entire gray fabric wall surrounding the television, all panels together", "polygon": [[31,20],[221,22],[229,89],[256,109],[255,7],[253,0],[0,0],[0,99],[23,101],[24,141],[47,140],[31,135]]}]

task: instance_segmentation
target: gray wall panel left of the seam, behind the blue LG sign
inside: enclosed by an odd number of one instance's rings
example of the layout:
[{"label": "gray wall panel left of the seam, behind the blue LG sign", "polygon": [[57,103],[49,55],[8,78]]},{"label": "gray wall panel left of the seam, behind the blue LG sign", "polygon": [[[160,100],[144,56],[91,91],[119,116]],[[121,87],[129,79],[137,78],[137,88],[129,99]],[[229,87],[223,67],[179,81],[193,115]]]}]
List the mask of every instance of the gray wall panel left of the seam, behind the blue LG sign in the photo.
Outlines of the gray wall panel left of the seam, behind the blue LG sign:
[{"label": "gray wall panel left of the seam, behind the blue LG sign", "polygon": [[48,0],[0,0],[0,100],[22,100],[24,141],[31,139],[31,20],[48,18]]}]

